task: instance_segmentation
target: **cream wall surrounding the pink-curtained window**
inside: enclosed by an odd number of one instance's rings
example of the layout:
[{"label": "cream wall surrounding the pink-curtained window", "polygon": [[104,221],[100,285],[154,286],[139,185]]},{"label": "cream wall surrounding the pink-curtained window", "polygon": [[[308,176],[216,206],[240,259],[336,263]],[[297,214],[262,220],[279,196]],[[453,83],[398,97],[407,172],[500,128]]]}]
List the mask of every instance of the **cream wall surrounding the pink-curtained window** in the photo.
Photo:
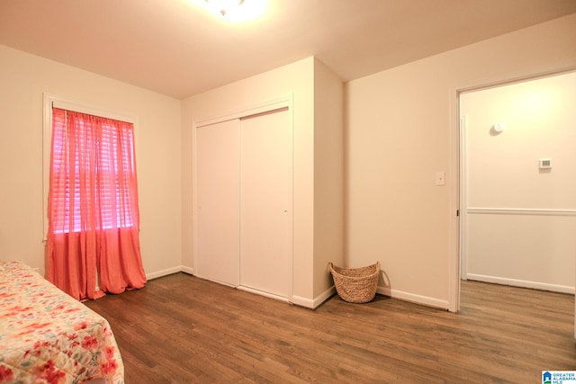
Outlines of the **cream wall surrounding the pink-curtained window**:
[{"label": "cream wall surrounding the pink-curtained window", "polygon": [[180,101],[0,45],[0,259],[44,271],[42,94],[138,119],[140,246],[148,275],[181,258]]}]

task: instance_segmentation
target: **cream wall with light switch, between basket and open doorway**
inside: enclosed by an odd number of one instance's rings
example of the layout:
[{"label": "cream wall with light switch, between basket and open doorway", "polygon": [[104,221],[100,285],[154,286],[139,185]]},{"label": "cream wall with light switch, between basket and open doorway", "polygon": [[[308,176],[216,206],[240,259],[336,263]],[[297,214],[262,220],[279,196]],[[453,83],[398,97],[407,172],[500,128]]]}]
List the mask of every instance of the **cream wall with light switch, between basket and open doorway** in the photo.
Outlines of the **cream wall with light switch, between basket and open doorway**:
[{"label": "cream wall with light switch, between basket and open doorway", "polygon": [[347,84],[351,266],[378,260],[393,297],[448,308],[457,90],[576,67],[574,41],[571,14]]}]

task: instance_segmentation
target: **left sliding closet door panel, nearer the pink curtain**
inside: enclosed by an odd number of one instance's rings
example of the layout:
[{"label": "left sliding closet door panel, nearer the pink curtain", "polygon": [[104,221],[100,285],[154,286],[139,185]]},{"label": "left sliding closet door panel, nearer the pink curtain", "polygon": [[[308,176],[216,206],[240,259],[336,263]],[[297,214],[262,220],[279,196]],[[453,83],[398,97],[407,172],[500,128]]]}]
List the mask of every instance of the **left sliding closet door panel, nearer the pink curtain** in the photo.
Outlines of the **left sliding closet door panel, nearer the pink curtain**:
[{"label": "left sliding closet door panel, nearer the pink curtain", "polygon": [[196,130],[197,274],[233,286],[239,268],[239,126],[233,120]]}]

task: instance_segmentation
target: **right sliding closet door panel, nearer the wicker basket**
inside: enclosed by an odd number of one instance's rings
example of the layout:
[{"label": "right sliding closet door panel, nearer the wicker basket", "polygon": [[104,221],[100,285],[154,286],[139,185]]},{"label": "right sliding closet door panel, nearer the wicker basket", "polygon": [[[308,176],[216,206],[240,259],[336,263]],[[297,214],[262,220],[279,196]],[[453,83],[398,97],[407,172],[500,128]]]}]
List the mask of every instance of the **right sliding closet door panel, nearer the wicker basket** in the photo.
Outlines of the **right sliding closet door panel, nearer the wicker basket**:
[{"label": "right sliding closet door panel, nearer the wicker basket", "polygon": [[240,120],[240,285],[292,295],[293,135],[287,108]]}]

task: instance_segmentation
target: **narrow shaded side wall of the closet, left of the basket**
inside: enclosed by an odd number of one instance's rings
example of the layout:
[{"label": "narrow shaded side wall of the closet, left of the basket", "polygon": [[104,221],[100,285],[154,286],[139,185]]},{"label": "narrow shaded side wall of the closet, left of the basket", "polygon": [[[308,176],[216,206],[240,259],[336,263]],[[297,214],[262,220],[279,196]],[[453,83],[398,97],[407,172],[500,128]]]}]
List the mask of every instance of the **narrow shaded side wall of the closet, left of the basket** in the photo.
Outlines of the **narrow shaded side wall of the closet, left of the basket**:
[{"label": "narrow shaded side wall of the closet, left of the basket", "polygon": [[314,62],[314,298],[333,281],[329,262],[344,265],[344,84]]}]

